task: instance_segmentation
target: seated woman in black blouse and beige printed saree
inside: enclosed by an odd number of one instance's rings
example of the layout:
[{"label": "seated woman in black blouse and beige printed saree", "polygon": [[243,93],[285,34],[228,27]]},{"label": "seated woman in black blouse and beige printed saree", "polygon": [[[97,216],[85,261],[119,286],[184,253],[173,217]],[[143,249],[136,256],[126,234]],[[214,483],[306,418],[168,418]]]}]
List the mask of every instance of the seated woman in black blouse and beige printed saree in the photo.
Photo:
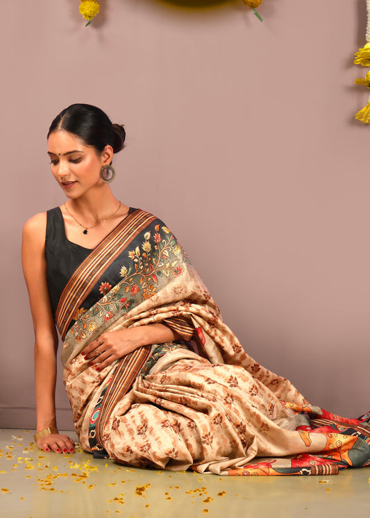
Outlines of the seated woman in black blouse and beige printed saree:
[{"label": "seated woman in black blouse and beige printed saree", "polygon": [[51,171],[67,201],[26,223],[22,251],[37,446],[74,451],[56,424],[57,326],[76,432],[96,457],[218,474],[369,465],[370,415],[308,406],[250,358],[169,228],[113,196],[111,163],[124,138],[122,126],[85,104],[49,129]]}]

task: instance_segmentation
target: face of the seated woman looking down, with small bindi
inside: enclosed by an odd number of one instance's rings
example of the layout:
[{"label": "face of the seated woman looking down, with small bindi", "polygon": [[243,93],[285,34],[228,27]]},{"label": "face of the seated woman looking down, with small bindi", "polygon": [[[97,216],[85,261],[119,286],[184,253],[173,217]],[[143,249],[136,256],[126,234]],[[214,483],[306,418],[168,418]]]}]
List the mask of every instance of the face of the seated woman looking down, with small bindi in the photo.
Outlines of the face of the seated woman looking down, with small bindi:
[{"label": "face of the seated woman looking down, with small bindi", "polygon": [[[86,146],[73,133],[53,131],[48,139],[48,155],[51,172],[69,198],[81,197],[96,185],[102,185],[100,169],[112,159],[103,151],[101,155],[93,147]],[[106,149],[107,149],[106,148]]]}]

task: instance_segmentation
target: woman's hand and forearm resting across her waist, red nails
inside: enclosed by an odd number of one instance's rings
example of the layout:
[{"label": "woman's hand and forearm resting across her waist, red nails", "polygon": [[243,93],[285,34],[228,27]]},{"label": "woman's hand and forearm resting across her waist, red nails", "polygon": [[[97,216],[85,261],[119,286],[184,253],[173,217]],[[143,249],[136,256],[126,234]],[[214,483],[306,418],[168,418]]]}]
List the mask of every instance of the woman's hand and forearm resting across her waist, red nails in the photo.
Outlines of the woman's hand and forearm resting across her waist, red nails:
[{"label": "woman's hand and forearm resting across her waist, red nails", "polygon": [[171,328],[160,323],[148,324],[103,333],[94,342],[87,345],[81,354],[85,360],[90,360],[90,366],[101,371],[138,347],[164,344],[172,340],[178,340],[178,335]]}]

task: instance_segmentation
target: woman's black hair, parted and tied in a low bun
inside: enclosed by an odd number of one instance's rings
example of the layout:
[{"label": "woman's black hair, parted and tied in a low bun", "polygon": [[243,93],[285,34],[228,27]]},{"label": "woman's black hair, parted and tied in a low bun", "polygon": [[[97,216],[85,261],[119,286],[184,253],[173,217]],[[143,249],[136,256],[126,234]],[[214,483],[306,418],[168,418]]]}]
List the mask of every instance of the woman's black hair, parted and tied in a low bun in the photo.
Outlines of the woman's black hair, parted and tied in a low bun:
[{"label": "woman's black hair, parted and tied in a low bun", "polygon": [[73,133],[99,153],[107,144],[112,146],[113,153],[118,153],[124,148],[126,138],[123,125],[112,124],[103,110],[91,104],[72,104],[62,110],[51,123],[47,137],[56,130]]}]

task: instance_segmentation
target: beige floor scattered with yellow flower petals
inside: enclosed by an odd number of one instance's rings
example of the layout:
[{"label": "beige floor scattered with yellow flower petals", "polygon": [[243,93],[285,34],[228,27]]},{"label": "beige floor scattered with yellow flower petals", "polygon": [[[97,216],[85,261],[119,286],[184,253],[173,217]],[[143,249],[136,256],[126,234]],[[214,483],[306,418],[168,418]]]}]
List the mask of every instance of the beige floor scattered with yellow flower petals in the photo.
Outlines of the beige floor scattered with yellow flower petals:
[{"label": "beige floor scattered with yellow flower petals", "polygon": [[43,453],[34,431],[0,431],[2,518],[367,517],[370,468],[338,476],[219,477],[127,469]]}]

